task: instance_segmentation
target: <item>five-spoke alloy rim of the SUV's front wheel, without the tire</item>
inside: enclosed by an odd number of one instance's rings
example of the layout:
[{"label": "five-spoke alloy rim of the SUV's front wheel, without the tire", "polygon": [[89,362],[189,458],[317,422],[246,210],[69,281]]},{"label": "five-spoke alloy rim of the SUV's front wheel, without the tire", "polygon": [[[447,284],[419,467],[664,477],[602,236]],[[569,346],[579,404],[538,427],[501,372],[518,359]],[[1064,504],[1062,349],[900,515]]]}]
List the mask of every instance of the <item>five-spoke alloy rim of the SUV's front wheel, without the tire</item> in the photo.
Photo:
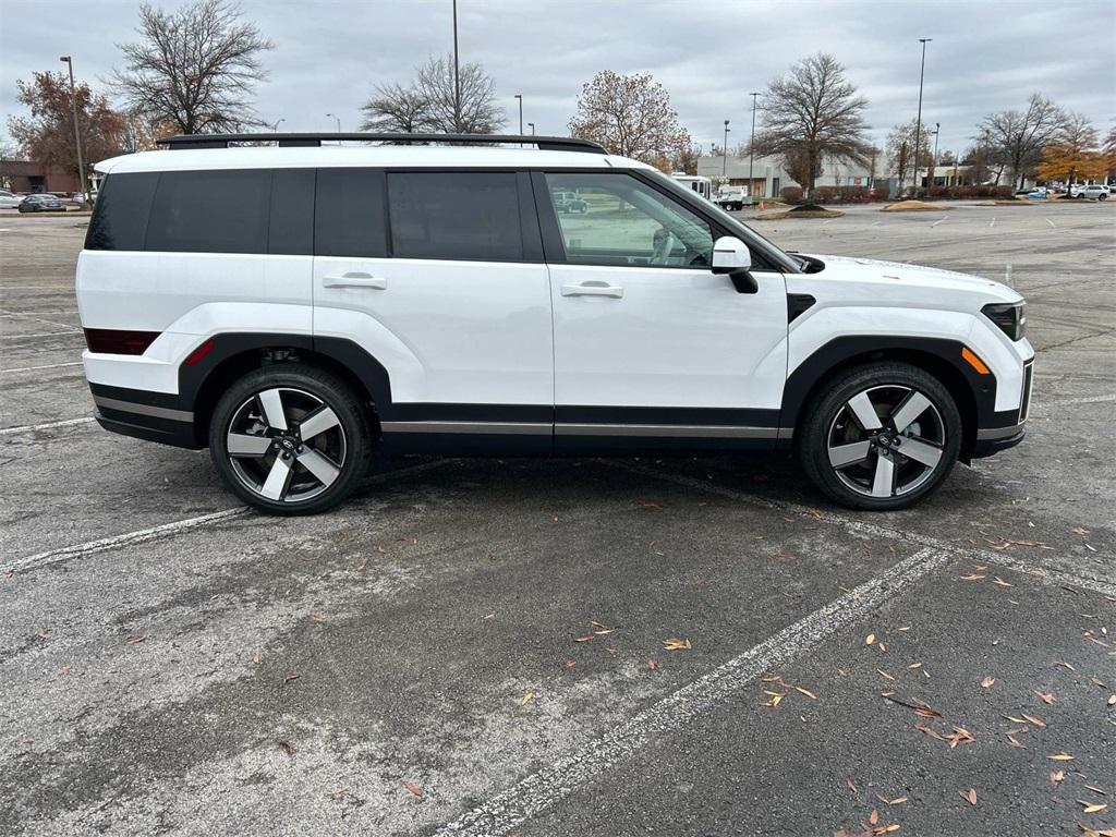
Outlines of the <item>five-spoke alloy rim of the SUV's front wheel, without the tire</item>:
[{"label": "five-spoke alloy rim of the SUV's front wheel, without the tire", "polygon": [[915,491],[943,462],[945,422],[934,403],[903,385],[864,389],[838,408],[826,448],[837,479],[887,499]]}]

